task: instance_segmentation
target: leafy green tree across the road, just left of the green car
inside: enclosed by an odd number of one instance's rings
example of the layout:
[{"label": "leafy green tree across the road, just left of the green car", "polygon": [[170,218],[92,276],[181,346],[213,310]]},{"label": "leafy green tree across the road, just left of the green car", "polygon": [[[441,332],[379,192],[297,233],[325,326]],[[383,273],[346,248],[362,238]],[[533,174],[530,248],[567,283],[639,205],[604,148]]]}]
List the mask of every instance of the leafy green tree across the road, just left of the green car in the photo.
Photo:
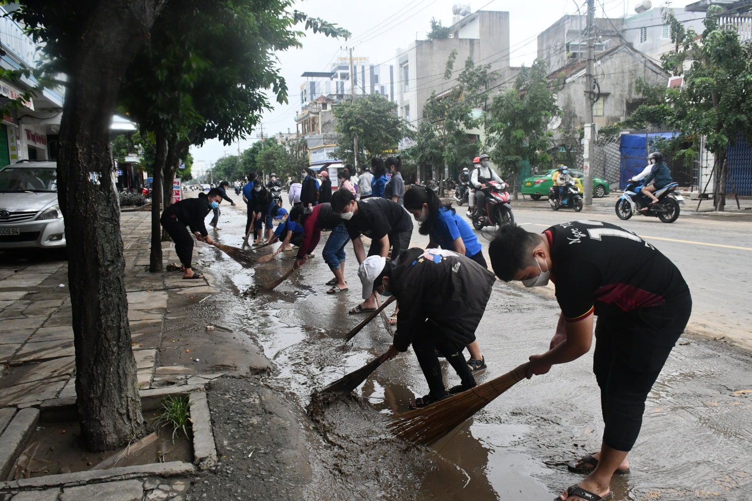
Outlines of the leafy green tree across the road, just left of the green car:
[{"label": "leafy green tree across the road, just left of the green car", "polygon": [[548,124],[561,112],[556,104],[560,81],[549,82],[546,74],[543,59],[529,68],[523,66],[514,86],[494,96],[486,120],[491,160],[515,179],[523,161],[533,166],[551,161],[548,150],[553,133]]}]

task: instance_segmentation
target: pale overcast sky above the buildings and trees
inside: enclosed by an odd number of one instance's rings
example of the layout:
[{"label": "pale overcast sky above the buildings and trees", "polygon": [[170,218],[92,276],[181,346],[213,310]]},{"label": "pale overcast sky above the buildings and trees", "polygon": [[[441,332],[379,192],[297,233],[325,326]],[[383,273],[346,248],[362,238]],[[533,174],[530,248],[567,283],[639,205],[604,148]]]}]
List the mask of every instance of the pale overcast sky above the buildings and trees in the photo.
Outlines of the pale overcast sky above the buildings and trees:
[{"label": "pale overcast sky above the buildings and trees", "polygon": [[[274,103],[274,110],[264,113],[264,134],[295,131],[294,115],[299,109],[299,86],[305,79],[304,71],[328,71],[332,60],[344,56],[341,47],[354,47],[353,56],[368,57],[371,64],[394,64],[398,47],[408,47],[411,41],[423,40],[429,31],[432,17],[449,26],[452,5],[456,0],[378,0],[378,2],[352,2],[352,0],[303,0],[295,8],[312,17],[321,17],[337,23],[353,34],[349,41],[326,38],[311,32],[302,39],[303,47],[277,53],[282,76],[290,92],[289,104]],[[539,32],[559,20],[564,14],[576,14],[578,5],[585,14],[585,0],[476,0],[469,2],[472,11],[508,11],[510,21],[511,65],[530,65],[537,53],[536,37]],[[596,16],[604,10],[609,17],[635,14],[634,6],[641,0],[596,0]],[[654,0],[657,6],[659,0]],[[689,3],[689,2],[687,2]],[[678,2],[675,6],[684,5]],[[258,140],[253,137],[240,141],[241,151]],[[225,146],[218,140],[197,148],[192,146],[194,160],[217,161],[223,155],[238,152],[238,143]]]}]

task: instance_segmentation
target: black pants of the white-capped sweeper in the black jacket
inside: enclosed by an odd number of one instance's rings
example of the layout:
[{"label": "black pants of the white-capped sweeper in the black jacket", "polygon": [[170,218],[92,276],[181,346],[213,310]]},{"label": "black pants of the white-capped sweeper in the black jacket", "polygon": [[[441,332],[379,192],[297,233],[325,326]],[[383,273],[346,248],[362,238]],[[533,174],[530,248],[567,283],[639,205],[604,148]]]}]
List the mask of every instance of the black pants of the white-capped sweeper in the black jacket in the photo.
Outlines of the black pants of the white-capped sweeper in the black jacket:
[{"label": "black pants of the white-capped sweeper in the black jacket", "polygon": [[[462,385],[465,388],[474,388],[477,384],[472,375],[472,371],[465,361],[465,355],[462,350],[465,346],[475,341],[475,334],[465,335],[456,333],[427,319],[413,335],[413,350],[423,370],[423,376],[426,376],[428,382],[429,397],[431,400],[438,400],[447,394],[444,388],[444,379],[441,377],[441,365],[438,363],[438,349],[447,362],[456,371]],[[435,349],[434,349],[435,348]]]}]

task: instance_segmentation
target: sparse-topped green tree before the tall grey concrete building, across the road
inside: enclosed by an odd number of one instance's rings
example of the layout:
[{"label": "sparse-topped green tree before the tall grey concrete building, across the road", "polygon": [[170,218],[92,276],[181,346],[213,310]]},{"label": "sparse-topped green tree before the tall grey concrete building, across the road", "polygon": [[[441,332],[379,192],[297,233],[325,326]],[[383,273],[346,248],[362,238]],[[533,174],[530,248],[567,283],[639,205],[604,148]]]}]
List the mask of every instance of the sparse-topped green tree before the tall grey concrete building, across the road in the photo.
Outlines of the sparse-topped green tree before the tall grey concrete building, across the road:
[{"label": "sparse-topped green tree before the tall grey concrete building, across the road", "polygon": [[[456,54],[453,50],[447,59],[446,80],[452,77]],[[432,92],[423,105],[423,120],[413,134],[417,145],[410,153],[419,164],[431,164],[441,173],[441,180],[444,168],[472,167],[472,158],[478,155],[481,141],[470,137],[467,131],[483,124],[484,113],[476,112],[486,107],[488,87],[498,77],[490,68],[491,65],[475,66],[468,57],[456,85],[441,95]]]}]

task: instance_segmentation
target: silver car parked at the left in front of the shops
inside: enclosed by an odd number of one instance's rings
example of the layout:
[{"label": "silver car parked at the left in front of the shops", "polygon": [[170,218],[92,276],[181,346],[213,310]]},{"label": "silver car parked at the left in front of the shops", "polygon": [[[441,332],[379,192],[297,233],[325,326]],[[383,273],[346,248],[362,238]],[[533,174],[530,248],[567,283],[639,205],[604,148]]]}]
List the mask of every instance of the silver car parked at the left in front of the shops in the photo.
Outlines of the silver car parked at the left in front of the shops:
[{"label": "silver car parked at the left in front of the shops", "polygon": [[65,247],[54,161],[0,169],[0,249]]}]

